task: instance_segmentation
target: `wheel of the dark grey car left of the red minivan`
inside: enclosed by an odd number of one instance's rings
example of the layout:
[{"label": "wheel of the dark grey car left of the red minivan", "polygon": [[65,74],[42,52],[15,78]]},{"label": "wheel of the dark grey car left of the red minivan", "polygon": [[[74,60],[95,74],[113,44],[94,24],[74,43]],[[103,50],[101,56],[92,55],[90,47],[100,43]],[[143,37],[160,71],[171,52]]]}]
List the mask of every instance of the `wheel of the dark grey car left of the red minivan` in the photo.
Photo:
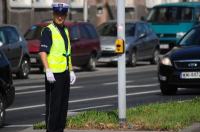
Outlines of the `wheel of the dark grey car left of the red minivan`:
[{"label": "wheel of the dark grey car left of the red minivan", "polygon": [[24,58],[21,62],[20,70],[17,73],[17,77],[20,78],[20,79],[21,78],[28,78],[29,72],[30,72],[29,61],[28,61],[28,59]]}]

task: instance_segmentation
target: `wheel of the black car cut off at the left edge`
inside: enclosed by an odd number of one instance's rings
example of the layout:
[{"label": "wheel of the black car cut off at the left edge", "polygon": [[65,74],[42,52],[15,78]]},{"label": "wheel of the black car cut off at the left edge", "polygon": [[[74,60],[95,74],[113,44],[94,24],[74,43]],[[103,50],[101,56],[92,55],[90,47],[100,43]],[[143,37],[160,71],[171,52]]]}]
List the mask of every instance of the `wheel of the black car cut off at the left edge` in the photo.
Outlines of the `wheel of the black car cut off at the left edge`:
[{"label": "wheel of the black car cut off at the left edge", "polygon": [[5,104],[4,104],[4,99],[3,96],[0,94],[0,127],[3,126],[4,121],[5,121]]}]

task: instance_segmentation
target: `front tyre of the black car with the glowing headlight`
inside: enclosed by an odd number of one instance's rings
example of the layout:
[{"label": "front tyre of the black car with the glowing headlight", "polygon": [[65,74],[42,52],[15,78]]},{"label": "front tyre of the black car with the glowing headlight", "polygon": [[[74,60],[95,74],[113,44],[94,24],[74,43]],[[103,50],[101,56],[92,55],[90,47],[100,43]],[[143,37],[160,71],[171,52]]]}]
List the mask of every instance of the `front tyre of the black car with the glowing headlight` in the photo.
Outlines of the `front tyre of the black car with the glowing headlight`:
[{"label": "front tyre of the black car with the glowing headlight", "polygon": [[178,90],[176,86],[168,85],[162,82],[160,82],[160,89],[163,95],[174,95]]}]

